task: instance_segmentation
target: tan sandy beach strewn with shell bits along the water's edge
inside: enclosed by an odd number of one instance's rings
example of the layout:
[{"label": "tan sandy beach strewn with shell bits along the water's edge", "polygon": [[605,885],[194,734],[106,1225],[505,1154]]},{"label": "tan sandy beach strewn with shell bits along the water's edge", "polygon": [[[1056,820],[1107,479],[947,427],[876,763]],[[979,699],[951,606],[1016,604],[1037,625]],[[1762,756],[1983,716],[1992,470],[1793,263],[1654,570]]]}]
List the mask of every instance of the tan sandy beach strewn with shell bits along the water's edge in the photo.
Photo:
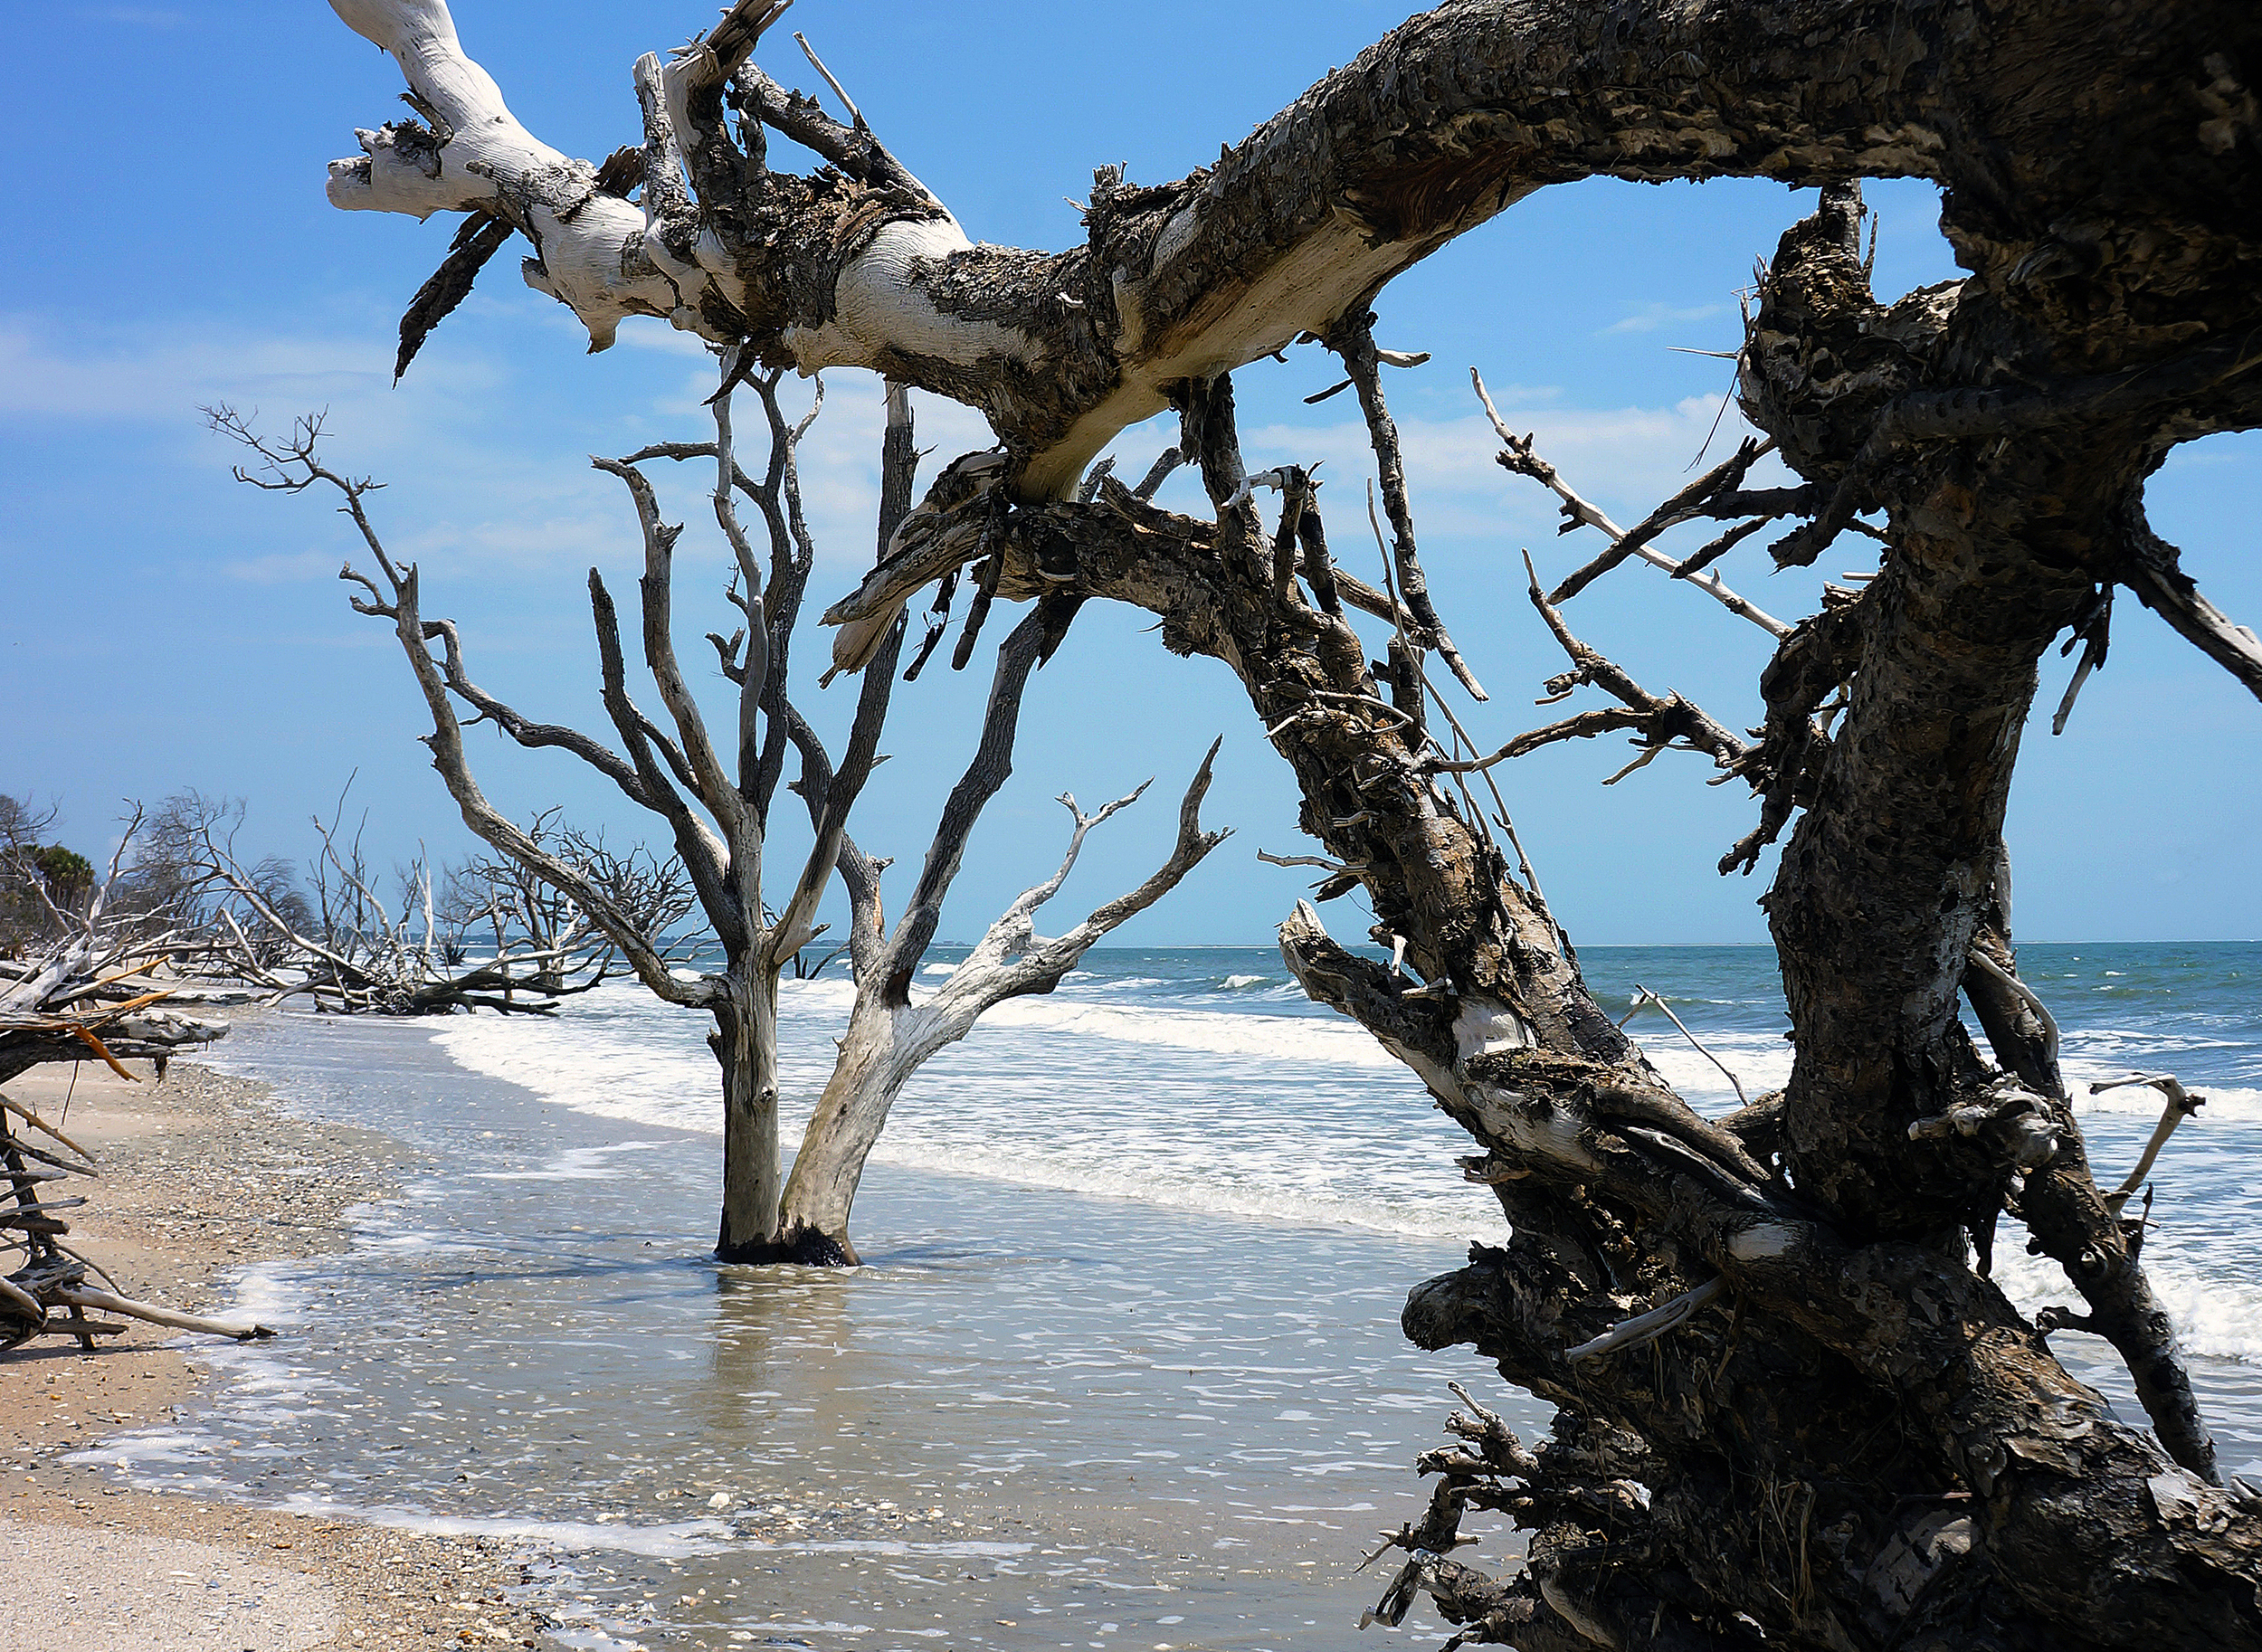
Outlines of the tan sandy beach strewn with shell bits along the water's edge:
[{"label": "tan sandy beach strewn with shell bits along the water's edge", "polygon": [[[342,1213],[416,1163],[195,1064],[127,1084],[88,1061],[7,1089],[102,1165],[72,1242],[174,1308],[226,1313],[231,1270],[344,1249]],[[545,1620],[507,1598],[523,1582],[507,1543],[149,1494],[66,1462],[163,1426],[210,1344],[133,1322],[93,1353],[57,1337],[0,1353],[0,1652],[536,1645]]]}]

